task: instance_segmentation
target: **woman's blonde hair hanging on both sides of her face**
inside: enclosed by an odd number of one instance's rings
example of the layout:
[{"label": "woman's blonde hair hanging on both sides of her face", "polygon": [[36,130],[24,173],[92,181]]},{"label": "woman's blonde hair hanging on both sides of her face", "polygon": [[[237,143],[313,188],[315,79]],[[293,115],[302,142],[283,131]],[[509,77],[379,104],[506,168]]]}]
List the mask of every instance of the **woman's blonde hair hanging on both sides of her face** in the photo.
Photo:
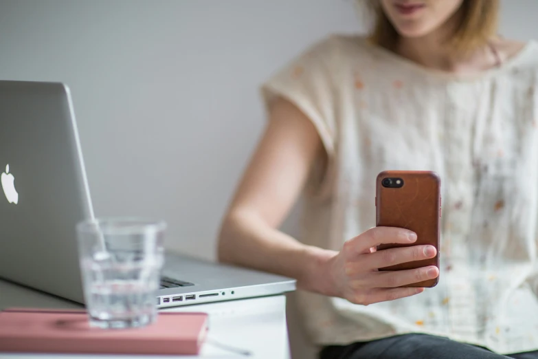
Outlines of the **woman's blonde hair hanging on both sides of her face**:
[{"label": "woman's blonde hair hanging on both sides of her face", "polygon": [[[358,0],[363,2],[365,0]],[[366,0],[374,14],[374,24],[370,40],[388,50],[395,50],[399,34],[381,8],[380,0]],[[447,45],[458,54],[469,54],[484,47],[497,35],[499,0],[463,0],[458,12],[460,23],[456,31],[447,39]]]}]

